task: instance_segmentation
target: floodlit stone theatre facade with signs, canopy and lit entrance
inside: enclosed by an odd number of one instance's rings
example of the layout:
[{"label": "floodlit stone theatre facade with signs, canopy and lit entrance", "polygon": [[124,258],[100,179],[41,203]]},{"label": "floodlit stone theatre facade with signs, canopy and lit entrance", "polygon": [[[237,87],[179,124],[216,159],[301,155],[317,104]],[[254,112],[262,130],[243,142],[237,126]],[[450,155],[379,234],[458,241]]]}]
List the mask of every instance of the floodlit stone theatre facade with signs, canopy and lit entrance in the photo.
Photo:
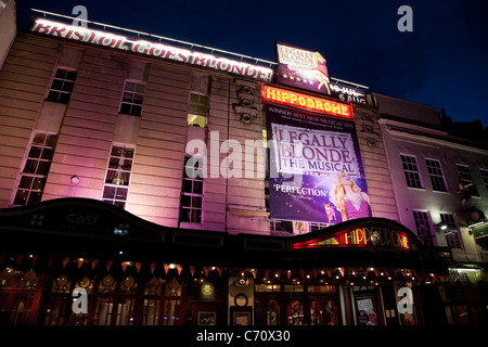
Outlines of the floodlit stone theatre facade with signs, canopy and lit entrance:
[{"label": "floodlit stone theatre facade with signs, canopy and lit entrance", "polygon": [[487,323],[484,216],[460,281],[461,250],[404,217],[368,87],[282,42],[277,62],[198,47],[55,16],[17,29],[1,324]]}]

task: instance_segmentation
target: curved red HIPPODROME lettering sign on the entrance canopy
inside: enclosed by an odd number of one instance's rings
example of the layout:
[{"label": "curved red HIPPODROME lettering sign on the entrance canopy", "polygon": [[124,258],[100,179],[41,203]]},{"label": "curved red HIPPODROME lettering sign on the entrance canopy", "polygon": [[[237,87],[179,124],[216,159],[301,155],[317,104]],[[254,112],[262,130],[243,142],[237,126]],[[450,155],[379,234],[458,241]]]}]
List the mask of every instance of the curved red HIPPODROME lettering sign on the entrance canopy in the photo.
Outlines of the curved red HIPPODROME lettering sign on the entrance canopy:
[{"label": "curved red HIPPODROME lettering sign on the entrance canopy", "polygon": [[296,242],[293,249],[323,247],[390,247],[411,249],[408,235],[399,230],[385,227],[352,228],[328,236]]}]

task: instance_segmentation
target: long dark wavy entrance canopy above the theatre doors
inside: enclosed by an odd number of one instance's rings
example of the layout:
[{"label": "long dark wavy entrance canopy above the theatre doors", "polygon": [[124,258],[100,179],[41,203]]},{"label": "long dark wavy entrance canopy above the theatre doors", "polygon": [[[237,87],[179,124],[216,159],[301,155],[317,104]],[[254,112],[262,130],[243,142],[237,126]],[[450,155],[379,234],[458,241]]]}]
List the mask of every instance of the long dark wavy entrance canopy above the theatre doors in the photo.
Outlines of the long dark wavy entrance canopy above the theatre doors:
[{"label": "long dark wavy entrance canopy above the theatre doors", "polygon": [[111,204],[60,198],[0,209],[0,253],[233,268],[406,267],[446,272],[448,248],[426,248],[383,218],[290,236],[169,228]]}]

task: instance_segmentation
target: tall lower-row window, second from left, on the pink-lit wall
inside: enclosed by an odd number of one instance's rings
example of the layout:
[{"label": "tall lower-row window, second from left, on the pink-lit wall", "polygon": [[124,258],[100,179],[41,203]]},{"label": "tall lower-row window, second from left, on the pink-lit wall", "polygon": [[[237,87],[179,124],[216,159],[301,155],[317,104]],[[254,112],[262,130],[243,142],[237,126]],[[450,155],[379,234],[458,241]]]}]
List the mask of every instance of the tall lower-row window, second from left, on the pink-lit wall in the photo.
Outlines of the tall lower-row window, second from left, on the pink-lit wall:
[{"label": "tall lower-row window, second from left, on the pink-lit wall", "polygon": [[[121,156],[113,156],[112,155],[115,147],[121,147],[123,149]],[[127,150],[132,150],[132,157],[131,158],[124,156],[124,153],[126,152],[126,149]],[[120,162],[121,158],[124,158],[124,162],[125,160],[129,160],[129,159],[131,160],[130,170],[126,170],[124,168],[121,169],[121,174],[123,175],[126,175],[126,174],[129,175],[129,179],[127,180],[127,184],[115,184],[115,183],[107,183],[106,182],[107,179],[108,179],[108,171],[117,172],[117,170],[118,170],[118,167],[116,169],[111,168],[112,158],[118,158],[119,162]],[[129,200],[130,181],[132,180],[132,168],[133,168],[134,158],[136,158],[136,146],[134,145],[125,144],[125,143],[112,143],[111,151],[108,153],[107,164],[105,166],[105,178],[104,178],[104,182],[103,182],[103,187],[102,187],[102,194],[101,194],[101,201],[102,202],[105,202],[107,204],[112,204],[114,206],[118,206],[118,207],[120,207],[123,209],[126,208],[127,202]],[[114,197],[105,197],[106,188],[114,188],[115,189]],[[117,198],[117,190],[126,190],[125,200]],[[119,206],[118,204],[115,204],[116,202],[124,203],[124,206]]]}]

